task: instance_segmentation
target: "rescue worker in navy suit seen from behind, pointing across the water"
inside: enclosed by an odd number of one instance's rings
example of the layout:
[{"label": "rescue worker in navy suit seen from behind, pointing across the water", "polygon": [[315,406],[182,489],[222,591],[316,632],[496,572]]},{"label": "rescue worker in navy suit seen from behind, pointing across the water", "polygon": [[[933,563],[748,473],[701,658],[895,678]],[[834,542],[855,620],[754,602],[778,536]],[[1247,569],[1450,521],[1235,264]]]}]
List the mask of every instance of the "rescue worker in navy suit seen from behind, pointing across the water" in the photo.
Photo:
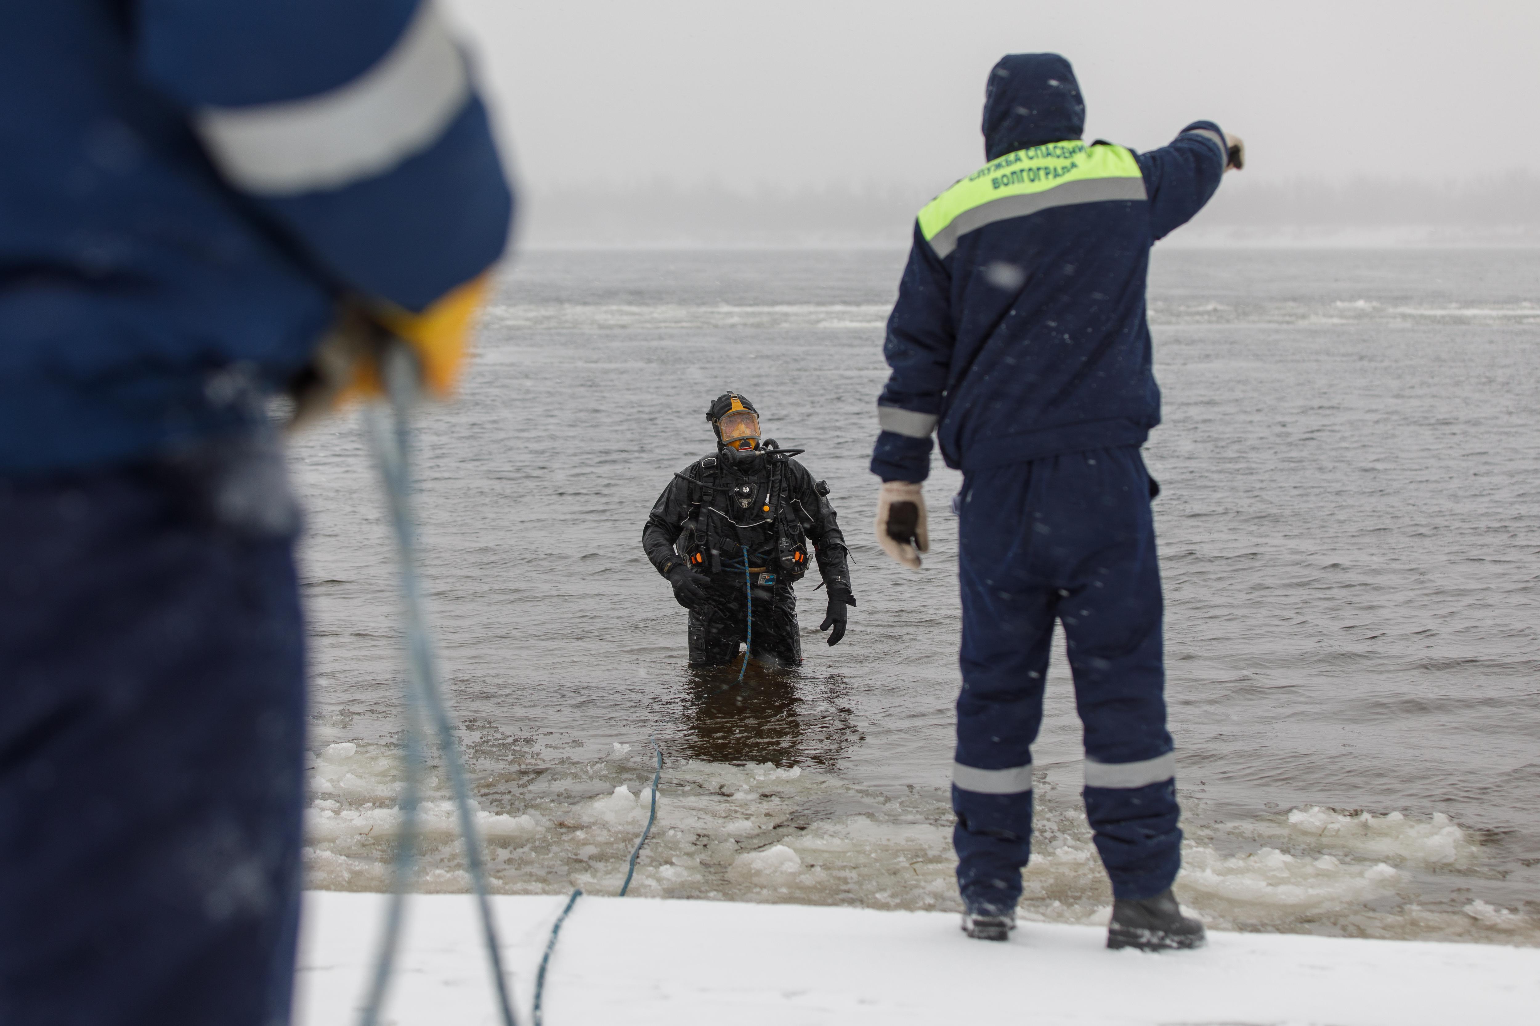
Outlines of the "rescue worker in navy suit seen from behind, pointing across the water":
[{"label": "rescue worker in navy suit seen from behind, pointing across the water", "polygon": [[918,568],[936,432],[961,468],[962,691],[952,772],[962,928],[1006,940],[1032,838],[1032,741],[1055,620],[1084,725],[1086,812],[1112,878],[1110,948],[1197,948],[1166,732],[1161,585],[1140,446],[1160,423],[1144,283],[1155,240],[1214,195],[1241,140],[1081,142],[1058,54],[989,77],[986,160],[927,205],[887,325],[872,472],[878,543]]}]

